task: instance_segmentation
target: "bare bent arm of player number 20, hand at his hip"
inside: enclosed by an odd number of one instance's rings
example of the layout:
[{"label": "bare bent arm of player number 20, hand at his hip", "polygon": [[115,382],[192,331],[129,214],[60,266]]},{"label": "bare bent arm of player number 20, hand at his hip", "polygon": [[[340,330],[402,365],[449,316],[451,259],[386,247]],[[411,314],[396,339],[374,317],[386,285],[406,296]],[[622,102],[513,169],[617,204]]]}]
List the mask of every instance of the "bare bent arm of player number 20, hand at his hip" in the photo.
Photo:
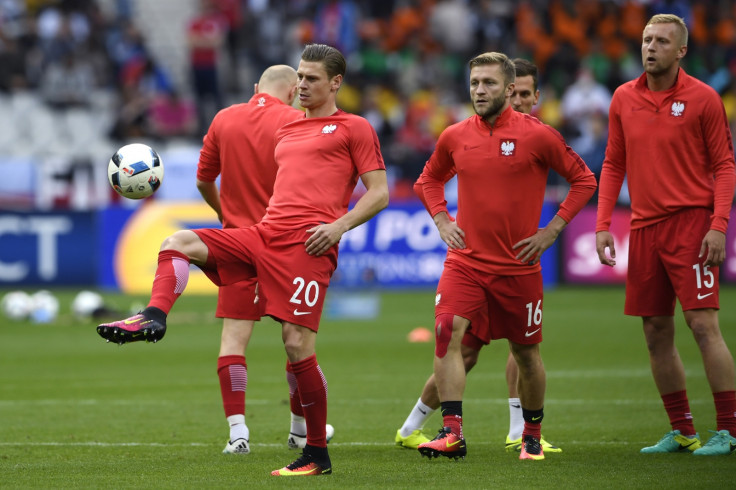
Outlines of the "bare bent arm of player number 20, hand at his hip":
[{"label": "bare bent arm of player number 20, hand at his hip", "polygon": [[373,170],[360,176],[366,193],[358,199],[353,209],[332,223],[325,223],[307,230],[311,233],[305,245],[309,255],[322,255],[340,241],[342,235],[362,225],[388,206],[388,181],[385,170]]}]

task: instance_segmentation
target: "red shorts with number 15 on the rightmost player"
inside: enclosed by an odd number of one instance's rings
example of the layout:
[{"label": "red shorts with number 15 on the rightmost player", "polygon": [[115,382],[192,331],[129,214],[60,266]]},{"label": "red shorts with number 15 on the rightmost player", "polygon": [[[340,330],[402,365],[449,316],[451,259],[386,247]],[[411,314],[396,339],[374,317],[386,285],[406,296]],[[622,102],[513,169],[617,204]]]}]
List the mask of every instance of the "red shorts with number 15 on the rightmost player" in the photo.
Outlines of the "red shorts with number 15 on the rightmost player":
[{"label": "red shorts with number 15 on the rightmost player", "polygon": [[718,267],[698,258],[712,212],[680,211],[664,221],[631,230],[624,313],[672,316],[675,298],[682,310],[718,308]]}]

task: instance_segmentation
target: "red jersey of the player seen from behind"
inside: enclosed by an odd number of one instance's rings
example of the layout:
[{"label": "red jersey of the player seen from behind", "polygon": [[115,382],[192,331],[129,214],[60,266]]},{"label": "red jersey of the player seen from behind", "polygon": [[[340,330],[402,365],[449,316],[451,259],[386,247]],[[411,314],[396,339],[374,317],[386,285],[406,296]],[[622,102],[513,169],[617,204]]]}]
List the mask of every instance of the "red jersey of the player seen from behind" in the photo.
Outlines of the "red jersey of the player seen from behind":
[{"label": "red jersey of the player seen from behind", "polygon": [[258,223],[273,193],[276,131],[304,113],[268,94],[217,113],[199,153],[197,179],[220,178],[222,224],[242,228]]}]

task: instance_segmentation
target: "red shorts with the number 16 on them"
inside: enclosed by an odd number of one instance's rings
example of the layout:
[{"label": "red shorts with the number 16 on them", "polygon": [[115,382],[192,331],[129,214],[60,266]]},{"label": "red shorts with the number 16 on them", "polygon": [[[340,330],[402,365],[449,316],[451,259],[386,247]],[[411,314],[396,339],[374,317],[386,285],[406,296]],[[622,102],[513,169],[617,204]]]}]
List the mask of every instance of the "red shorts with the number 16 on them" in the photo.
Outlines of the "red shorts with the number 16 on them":
[{"label": "red shorts with the number 16 on them", "polygon": [[500,276],[445,261],[435,316],[449,313],[470,320],[470,336],[463,343],[472,348],[480,349],[497,339],[538,344],[542,341],[543,296],[541,272]]}]

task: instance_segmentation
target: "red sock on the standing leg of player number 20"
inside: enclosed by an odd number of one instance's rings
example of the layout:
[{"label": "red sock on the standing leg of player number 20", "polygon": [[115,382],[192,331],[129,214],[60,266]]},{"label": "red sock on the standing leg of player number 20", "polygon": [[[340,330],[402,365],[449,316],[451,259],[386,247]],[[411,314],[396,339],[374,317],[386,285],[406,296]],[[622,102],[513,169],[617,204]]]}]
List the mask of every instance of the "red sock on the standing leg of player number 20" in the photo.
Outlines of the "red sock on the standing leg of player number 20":
[{"label": "red sock on the standing leg of player number 20", "polygon": [[317,364],[317,356],[313,354],[299,362],[292,362],[291,370],[296,378],[307,422],[307,444],[327,447],[327,381]]}]

